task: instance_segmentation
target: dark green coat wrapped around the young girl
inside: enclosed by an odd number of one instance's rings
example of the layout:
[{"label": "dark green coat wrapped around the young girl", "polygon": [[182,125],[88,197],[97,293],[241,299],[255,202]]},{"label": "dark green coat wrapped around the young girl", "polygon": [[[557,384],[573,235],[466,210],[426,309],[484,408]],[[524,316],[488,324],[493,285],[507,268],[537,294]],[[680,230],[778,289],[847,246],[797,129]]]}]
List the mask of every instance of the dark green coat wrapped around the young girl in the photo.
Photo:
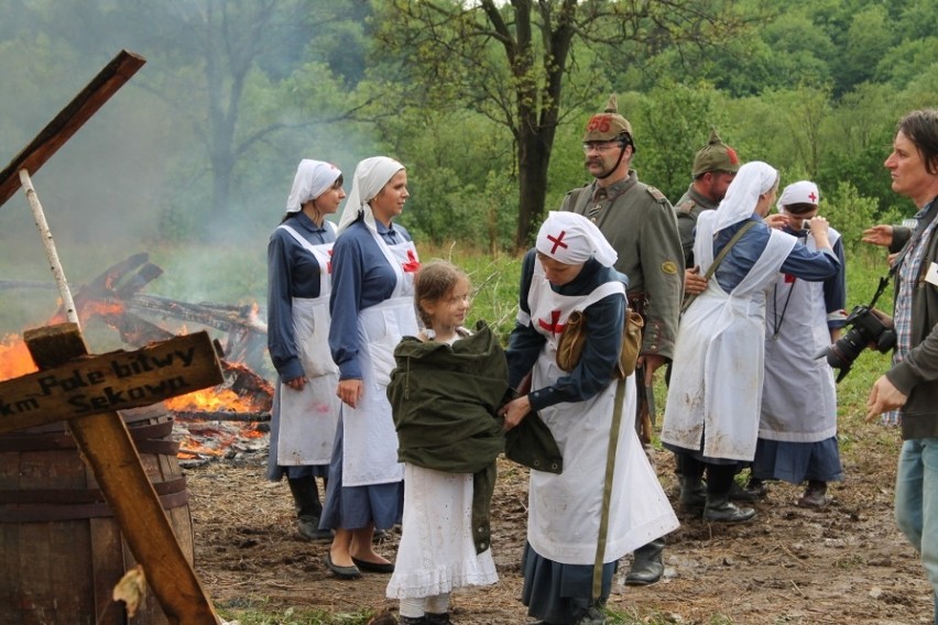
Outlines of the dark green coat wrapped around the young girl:
[{"label": "dark green coat wrapped around the young girl", "polygon": [[472,473],[476,550],[489,548],[495,459],[504,450],[502,419],[508,364],[491,329],[452,346],[404,337],[394,350],[388,398],[397,429],[397,459],[447,473]]}]

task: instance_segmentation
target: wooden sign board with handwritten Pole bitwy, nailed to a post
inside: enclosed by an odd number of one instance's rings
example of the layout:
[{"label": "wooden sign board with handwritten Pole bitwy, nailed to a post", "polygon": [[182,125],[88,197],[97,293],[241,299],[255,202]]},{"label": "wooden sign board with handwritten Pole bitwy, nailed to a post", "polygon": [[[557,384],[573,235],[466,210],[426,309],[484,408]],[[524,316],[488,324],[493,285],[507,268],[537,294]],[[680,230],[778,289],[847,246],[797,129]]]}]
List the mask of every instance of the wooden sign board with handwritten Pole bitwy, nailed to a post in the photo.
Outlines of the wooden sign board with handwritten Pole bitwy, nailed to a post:
[{"label": "wooden sign board with handwritten Pole bitwy, nailed to a post", "polygon": [[112,352],[0,383],[0,434],[149,406],[223,381],[208,332]]}]

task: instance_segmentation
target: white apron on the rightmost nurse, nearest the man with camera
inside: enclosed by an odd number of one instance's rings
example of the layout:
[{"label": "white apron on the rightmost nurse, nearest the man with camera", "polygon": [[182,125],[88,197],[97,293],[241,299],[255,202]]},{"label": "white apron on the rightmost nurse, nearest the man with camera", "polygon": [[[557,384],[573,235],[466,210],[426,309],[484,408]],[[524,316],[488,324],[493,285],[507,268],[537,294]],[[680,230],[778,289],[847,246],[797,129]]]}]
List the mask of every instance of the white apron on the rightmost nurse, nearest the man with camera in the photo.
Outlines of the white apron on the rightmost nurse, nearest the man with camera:
[{"label": "white apron on the rightmost nurse, nearest the man with camera", "polygon": [[[832,229],[828,237],[831,245],[840,238]],[[810,234],[805,244],[817,250]],[[827,440],[837,434],[837,390],[827,360],[815,358],[830,344],[824,283],[793,282],[779,274],[766,297],[759,436],[788,442]]]}]

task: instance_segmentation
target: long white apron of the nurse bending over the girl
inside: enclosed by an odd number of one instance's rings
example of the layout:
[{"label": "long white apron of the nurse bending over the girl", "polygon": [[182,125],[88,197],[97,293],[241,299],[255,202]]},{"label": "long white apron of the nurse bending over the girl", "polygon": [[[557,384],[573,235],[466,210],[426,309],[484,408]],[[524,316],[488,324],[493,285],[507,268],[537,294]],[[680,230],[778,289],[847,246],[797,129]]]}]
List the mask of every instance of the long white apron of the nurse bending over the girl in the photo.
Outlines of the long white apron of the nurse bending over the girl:
[{"label": "long white apron of the nurse bending over the girl", "polygon": [[[535,262],[528,293],[531,319],[547,341],[534,365],[533,388],[542,388],[566,375],[557,366],[556,355],[560,328],[570,312],[612,293],[624,294],[624,286],[607,283],[588,297],[558,295],[550,289],[541,263]],[[623,383],[625,398],[603,562],[618,560],[678,526],[635,428],[631,427],[635,414],[634,379],[629,376]],[[613,381],[591,399],[557,404],[539,413],[564,456],[564,472],[559,475],[531,471],[527,539],[544,558],[565,564],[596,561],[617,384]]]}]

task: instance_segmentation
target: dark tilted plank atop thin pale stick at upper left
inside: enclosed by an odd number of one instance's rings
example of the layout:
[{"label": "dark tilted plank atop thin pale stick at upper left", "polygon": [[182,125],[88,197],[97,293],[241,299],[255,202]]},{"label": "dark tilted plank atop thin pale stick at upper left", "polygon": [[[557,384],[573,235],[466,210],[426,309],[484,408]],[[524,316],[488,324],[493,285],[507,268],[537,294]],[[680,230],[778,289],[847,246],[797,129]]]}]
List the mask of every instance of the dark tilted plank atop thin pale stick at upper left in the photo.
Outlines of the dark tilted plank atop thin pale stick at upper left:
[{"label": "dark tilted plank atop thin pale stick at upper left", "polygon": [[126,50],[120,51],[95,79],[48,122],[32,143],[0,172],[0,206],[20,188],[20,169],[35,174],[144,63],[146,59],[142,56]]}]

